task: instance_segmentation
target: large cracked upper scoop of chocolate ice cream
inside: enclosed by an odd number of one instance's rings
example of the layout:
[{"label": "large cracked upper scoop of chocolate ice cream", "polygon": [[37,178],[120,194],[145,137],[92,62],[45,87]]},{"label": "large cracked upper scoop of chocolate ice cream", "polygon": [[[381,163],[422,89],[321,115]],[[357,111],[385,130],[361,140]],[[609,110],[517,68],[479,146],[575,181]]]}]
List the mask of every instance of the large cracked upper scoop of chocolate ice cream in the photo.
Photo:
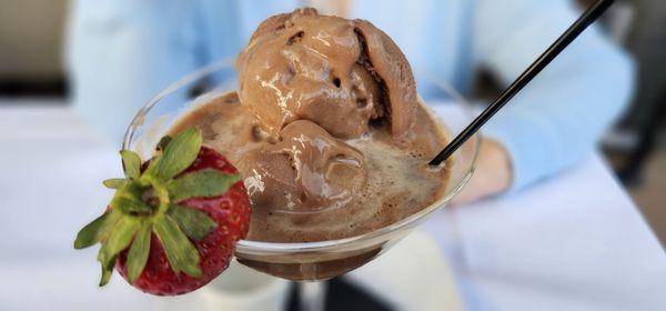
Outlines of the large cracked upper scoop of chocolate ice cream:
[{"label": "large cracked upper scoop of chocolate ice cream", "polygon": [[413,123],[414,78],[395,43],[367,21],[320,16],[314,9],[269,18],[239,56],[241,102],[273,137],[311,120],[350,139],[371,123],[394,137]]}]

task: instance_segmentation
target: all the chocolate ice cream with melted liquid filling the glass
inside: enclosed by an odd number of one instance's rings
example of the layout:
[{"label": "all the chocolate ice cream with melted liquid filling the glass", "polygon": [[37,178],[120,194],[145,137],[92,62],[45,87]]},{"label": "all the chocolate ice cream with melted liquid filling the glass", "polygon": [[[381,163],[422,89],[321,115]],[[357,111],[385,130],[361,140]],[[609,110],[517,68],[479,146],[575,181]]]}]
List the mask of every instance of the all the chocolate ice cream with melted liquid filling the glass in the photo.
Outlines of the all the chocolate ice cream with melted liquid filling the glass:
[{"label": "all the chocolate ice cream with melted liquid filling the glass", "polygon": [[[452,164],[426,164],[446,133],[416,99],[403,53],[370,22],[313,9],[271,17],[236,69],[238,96],[196,107],[171,132],[202,129],[203,143],[239,168],[252,200],[249,240],[364,234],[421,211],[447,189]],[[315,273],[340,274],[363,255]],[[276,267],[265,271],[291,273]]]}]

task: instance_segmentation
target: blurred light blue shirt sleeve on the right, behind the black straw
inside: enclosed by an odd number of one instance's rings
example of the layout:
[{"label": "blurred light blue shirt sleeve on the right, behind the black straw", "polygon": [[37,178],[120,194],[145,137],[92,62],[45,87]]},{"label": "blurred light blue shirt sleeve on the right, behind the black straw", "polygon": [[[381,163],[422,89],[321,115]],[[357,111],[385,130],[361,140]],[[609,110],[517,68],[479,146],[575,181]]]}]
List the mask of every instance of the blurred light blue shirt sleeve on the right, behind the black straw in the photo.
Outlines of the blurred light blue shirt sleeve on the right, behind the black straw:
[{"label": "blurred light blue shirt sleeve on the right, behind the black straw", "polygon": [[[476,4],[472,40],[477,66],[504,87],[579,16],[566,0]],[[591,27],[488,121],[484,134],[502,143],[512,159],[511,191],[594,150],[629,100],[633,68],[627,54]]]}]

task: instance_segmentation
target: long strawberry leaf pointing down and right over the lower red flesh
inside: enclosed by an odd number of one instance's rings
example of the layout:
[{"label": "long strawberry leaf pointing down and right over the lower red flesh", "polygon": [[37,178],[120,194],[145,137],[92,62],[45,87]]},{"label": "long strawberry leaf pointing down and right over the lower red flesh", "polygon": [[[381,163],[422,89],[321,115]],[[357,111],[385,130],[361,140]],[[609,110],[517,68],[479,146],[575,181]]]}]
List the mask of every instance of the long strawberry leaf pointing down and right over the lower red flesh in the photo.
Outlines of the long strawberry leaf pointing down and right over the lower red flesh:
[{"label": "long strawberry leaf pointing down and right over the lower red flesh", "polygon": [[193,278],[201,277],[199,251],[168,214],[154,222],[154,230],[164,247],[169,265],[174,273],[185,272]]}]

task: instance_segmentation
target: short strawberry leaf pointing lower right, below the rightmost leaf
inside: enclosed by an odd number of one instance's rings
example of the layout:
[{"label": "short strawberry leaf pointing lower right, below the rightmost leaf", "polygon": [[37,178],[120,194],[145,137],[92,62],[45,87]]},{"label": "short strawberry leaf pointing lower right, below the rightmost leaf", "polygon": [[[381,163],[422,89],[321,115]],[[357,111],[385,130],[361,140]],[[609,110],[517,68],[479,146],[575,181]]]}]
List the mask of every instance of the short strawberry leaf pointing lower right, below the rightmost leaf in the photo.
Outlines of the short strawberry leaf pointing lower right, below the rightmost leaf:
[{"label": "short strawberry leaf pointing lower right, below the rightmost leaf", "polygon": [[171,205],[169,213],[181,230],[192,240],[199,241],[218,228],[218,223],[206,213],[179,205]]}]

